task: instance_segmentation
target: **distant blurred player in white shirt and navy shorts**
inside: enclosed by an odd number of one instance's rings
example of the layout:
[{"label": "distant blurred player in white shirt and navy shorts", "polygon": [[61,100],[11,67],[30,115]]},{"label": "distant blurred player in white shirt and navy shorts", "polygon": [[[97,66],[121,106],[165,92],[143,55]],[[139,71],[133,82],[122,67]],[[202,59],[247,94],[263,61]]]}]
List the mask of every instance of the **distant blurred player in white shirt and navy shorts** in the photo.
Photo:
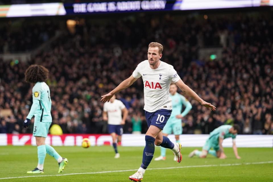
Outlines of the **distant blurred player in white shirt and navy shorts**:
[{"label": "distant blurred player in white shirt and navy shorts", "polygon": [[[123,113],[122,119],[121,112]],[[108,131],[113,138],[113,147],[116,153],[116,159],[120,157],[117,152],[117,143],[121,142],[121,135],[123,134],[122,125],[125,124],[127,115],[128,110],[120,100],[116,99],[115,95],[110,99],[110,102],[105,103],[103,106],[103,119],[108,121]]]}]

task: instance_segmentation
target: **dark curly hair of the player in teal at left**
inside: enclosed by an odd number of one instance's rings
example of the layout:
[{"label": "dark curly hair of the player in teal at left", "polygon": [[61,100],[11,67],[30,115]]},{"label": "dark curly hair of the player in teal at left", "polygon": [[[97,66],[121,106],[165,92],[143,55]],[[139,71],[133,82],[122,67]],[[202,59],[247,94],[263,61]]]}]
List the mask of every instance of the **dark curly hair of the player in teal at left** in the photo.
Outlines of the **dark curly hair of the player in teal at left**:
[{"label": "dark curly hair of the player in teal at left", "polygon": [[40,65],[30,65],[25,72],[25,80],[29,83],[45,82],[48,76],[48,69]]}]

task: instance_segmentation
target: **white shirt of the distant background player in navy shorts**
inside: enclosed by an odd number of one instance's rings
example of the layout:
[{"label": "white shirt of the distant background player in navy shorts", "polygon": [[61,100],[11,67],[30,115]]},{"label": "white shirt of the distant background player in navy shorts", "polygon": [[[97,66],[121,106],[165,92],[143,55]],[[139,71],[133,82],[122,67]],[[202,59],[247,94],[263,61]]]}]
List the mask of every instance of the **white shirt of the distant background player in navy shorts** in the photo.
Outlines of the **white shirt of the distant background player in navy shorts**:
[{"label": "white shirt of the distant background player in navy shorts", "polygon": [[109,125],[120,125],[122,121],[121,110],[124,109],[124,104],[115,99],[113,103],[106,102],[103,105],[103,111],[107,112]]}]

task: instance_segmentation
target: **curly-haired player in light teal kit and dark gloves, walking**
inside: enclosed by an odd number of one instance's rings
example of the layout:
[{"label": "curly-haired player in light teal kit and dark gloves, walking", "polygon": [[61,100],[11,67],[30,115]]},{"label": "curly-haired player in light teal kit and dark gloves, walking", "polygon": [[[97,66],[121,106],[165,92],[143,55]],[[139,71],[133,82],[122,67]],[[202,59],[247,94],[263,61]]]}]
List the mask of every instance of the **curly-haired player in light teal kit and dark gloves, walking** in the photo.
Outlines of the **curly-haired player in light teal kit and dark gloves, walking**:
[{"label": "curly-haired player in light teal kit and dark gloves, walking", "polygon": [[54,157],[59,163],[59,173],[63,171],[68,162],[67,158],[61,157],[53,147],[45,144],[48,129],[52,122],[50,90],[45,83],[47,76],[48,70],[39,65],[31,65],[25,72],[26,82],[35,83],[35,85],[32,88],[33,104],[24,121],[24,128],[29,126],[34,115],[33,136],[38,148],[38,166],[27,173],[44,173],[46,153]]}]

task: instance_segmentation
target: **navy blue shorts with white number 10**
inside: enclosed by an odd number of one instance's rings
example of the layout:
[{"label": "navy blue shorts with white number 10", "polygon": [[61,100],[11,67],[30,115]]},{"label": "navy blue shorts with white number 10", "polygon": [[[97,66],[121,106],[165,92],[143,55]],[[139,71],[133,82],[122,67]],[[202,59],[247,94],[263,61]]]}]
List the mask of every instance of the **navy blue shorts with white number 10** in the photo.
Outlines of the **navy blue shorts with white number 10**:
[{"label": "navy blue shorts with white number 10", "polygon": [[171,116],[171,111],[172,110],[167,109],[160,109],[152,113],[145,111],[145,117],[148,127],[150,127],[150,125],[154,125],[163,130],[169,117]]}]

